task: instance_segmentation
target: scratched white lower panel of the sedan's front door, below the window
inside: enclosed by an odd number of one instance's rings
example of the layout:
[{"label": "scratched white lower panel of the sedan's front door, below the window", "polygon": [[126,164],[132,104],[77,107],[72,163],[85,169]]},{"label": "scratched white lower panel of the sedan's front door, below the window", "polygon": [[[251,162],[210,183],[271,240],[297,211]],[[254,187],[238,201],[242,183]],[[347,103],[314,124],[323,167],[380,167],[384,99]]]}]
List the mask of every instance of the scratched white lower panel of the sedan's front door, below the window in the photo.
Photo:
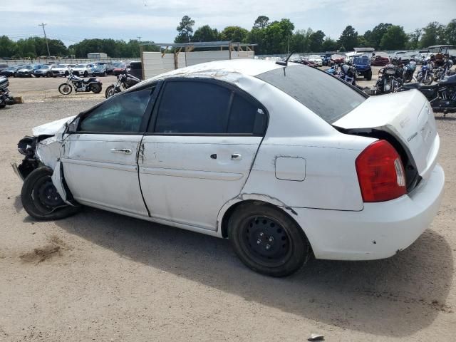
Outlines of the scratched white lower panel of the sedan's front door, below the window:
[{"label": "scratched white lower panel of the sedan's front door, below the window", "polygon": [[75,134],[63,147],[63,172],[73,197],[147,216],[138,182],[142,135]]}]

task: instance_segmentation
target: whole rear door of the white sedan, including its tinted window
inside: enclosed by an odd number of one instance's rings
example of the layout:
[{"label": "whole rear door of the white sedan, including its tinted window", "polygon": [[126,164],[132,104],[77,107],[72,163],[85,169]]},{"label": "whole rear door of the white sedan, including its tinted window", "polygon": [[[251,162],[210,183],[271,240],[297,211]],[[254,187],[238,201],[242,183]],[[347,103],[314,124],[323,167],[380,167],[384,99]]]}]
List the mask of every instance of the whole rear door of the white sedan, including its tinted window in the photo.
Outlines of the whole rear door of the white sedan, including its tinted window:
[{"label": "whole rear door of the white sedan, including its tinted window", "polygon": [[215,230],[219,209],[249,176],[266,123],[256,100],[225,83],[165,81],[138,159],[151,216]]}]

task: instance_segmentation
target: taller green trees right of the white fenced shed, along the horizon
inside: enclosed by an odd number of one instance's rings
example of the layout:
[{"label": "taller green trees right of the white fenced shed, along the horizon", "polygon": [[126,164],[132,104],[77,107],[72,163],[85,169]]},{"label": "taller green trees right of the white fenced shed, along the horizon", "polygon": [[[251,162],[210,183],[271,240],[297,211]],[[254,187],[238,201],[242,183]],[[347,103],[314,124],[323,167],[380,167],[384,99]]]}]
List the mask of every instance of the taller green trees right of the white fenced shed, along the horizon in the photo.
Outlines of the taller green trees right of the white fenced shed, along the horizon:
[{"label": "taller green trees right of the white fenced shed, along the horizon", "polygon": [[427,48],[437,44],[456,44],[456,19],[447,25],[433,21],[423,28],[405,33],[403,26],[380,23],[372,30],[359,34],[348,25],[339,38],[333,39],[321,31],[311,28],[294,31],[289,19],[270,21],[267,16],[258,16],[252,29],[240,26],[227,26],[222,31],[209,25],[200,26],[193,31],[195,21],[183,16],[177,26],[175,42],[197,41],[239,41],[257,43],[257,54],[322,51],[353,51],[354,47],[373,47],[375,50],[398,50]]}]

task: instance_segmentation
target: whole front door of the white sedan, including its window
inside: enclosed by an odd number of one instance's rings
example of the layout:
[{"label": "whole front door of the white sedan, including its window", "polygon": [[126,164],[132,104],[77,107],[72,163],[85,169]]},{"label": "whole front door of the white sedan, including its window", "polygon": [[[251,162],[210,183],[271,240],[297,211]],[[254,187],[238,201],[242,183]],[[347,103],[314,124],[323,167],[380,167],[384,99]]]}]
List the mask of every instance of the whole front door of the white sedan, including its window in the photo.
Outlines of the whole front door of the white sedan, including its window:
[{"label": "whole front door of the white sedan, including its window", "polygon": [[82,204],[147,216],[138,180],[138,150],[152,88],[105,100],[80,118],[61,155],[63,174]]}]

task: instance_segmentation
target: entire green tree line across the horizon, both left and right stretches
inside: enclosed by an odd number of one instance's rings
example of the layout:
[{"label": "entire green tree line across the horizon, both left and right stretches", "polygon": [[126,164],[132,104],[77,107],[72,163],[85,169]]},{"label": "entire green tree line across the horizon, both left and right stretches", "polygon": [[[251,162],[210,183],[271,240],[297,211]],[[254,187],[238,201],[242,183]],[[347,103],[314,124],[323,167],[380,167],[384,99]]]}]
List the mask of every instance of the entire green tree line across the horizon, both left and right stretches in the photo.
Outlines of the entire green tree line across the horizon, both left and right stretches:
[{"label": "entire green tree line across the horizon, both left and right stretches", "polygon": [[[356,29],[347,26],[338,39],[333,39],[321,31],[311,28],[294,30],[294,24],[289,19],[270,21],[267,16],[258,16],[252,28],[247,30],[240,26],[227,26],[222,31],[209,25],[193,27],[195,21],[190,16],[183,16],[177,26],[176,43],[197,41],[236,41],[242,43],[257,43],[255,53],[274,54],[296,52],[322,51],[353,51],[358,47],[373,47],[375,50],[418,49],[437,44],[456,45],[456,19],[447,25],[433,21],[423,28],[405,33],[403,26],[380,23],[372,30],[359,34]],[[51,56],[76,56],[86,58],[90,52],[104,52],[112,58],[128,58],[140,56],[140,42],[135,39],[123,41],[118,39],[84,39],[71,46],[59,39],[48,39]],[[156,46],[145,46],[146,51],[158,51]],[[22,38],[18,41],[8,36],[0,36],[0,57],[6,58],[37,58],[47,56],[46,39],[43,37]]]}]

